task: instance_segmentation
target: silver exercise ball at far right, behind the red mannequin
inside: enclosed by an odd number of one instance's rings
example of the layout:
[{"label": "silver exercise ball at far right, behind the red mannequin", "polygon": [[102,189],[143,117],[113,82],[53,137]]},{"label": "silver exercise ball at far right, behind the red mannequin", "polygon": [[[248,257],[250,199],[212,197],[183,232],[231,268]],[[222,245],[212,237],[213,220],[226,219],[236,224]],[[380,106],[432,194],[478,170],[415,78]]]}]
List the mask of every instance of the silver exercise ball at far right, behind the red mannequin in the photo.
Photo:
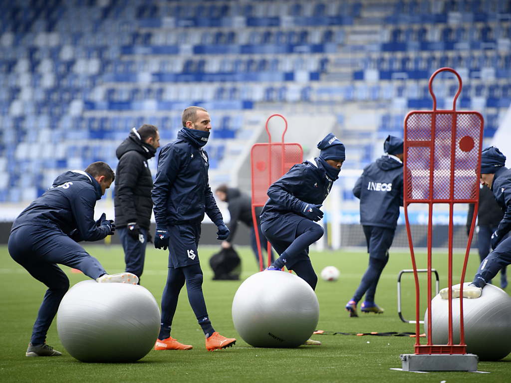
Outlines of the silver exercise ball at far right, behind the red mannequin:
[{"label": "silver exercise ball at far right, behind the red mannequin", "polygon": [[[468,283],[465,283],[465,286]],[[459,344],[459,299],[452,300],[453,342]],[[449,301],[437,295],[431,300],[433,344],[447,344]],[[479,298],[463,298],[463,327],[467,352],[481,361],[498,361],[511,352],[511,297],[493,284],[482,289]],[[428,311],[424,317],[428,334]]]}]

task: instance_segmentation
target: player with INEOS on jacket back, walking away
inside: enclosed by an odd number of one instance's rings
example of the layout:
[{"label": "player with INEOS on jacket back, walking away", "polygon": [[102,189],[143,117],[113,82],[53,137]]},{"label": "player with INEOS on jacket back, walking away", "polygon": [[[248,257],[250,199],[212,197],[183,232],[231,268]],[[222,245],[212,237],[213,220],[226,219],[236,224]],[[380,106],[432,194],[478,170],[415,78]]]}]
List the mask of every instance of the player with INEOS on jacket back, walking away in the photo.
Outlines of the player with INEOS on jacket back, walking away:
[{"label": "player with INEOS on jacket back, walking away", "polygon": [[369,266],[353,298],[346,304],[350,317],[357,317],[357,303],[365,294],[361,310],[382,314],[375,303],[378,280],[388,261],[403,206],[403,140],[389,135],[383,144],[385,154],[367,165],[355,183],[353,194],[360,199],[360,223],[369,253]]}]

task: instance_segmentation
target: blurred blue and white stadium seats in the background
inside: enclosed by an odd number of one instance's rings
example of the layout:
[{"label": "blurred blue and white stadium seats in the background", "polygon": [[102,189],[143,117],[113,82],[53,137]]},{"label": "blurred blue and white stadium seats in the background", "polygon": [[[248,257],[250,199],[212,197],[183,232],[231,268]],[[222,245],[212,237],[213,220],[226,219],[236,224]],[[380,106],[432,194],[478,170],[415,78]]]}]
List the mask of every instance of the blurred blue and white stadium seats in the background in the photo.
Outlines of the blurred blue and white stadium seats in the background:
[{"label": "blurred blue and white stadium seats in the background", "polygon": [[[0,203],[35,198],[70,167],[114,167],[115,148],[143,123],[168,142],[189,105],[211,111],[215,183],[231,181],[243,153],[232,148],[257,134],[246,122],[272,105],[342,115],[346,166],[361,169],[385,134],[402,134],[409,110],[432,107],[439,67],[462,76],[458,108],[477,107],[485,138],[511,104],[504,0],[3,0],[0,9]],[[457,81],[444,78],[434,88],[448,109]],[[376,122],[350,126],[352,109]]]}]

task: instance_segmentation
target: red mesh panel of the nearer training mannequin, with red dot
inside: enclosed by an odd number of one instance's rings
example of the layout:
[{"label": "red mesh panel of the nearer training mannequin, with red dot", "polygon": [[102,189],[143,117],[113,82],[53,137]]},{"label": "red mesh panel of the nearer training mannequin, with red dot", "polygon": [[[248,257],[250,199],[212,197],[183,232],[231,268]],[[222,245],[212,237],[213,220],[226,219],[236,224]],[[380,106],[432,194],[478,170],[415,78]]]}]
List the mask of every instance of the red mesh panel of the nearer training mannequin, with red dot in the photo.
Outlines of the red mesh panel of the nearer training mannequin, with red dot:
[{"label": "red mesh panel of the nearer training mannequin, with red dot", "polygon": [[[456,124],[453,124],[454,115]],[[408,178],[405,200],[475,201],[477,188],[474,185],[479,182],[477,170],[481,124],[481,116],[476,112],[409,113],[405,119]],[[431,171],[433,177],[430,184]]]}]

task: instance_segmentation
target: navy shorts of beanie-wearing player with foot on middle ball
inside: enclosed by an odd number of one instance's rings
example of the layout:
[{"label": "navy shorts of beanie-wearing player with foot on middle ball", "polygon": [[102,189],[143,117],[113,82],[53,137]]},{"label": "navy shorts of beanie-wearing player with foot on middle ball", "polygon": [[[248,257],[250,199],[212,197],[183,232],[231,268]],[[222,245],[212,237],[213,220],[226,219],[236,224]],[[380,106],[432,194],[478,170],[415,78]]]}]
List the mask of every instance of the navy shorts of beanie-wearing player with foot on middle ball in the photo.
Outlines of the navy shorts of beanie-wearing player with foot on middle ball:
[{"label": "navy shorts of beanie-wearing player with foot on middle ball", "polygon": [[[314,224],[305,217],[298,216],[295,213],[287,213],[283,216],[277,216],[261,222],[261,229],[264,235],[275,249],[278,255],[281,255],[293,243],[297,236],[303,234],[298,230],[298,224],[302,221]],[[314,224],[316,225],[316,224]],[[292,270],[293,265],[301,260],[310,260],[309,249],[304,249],[299,254],[286,262],[286,268]]]}]

